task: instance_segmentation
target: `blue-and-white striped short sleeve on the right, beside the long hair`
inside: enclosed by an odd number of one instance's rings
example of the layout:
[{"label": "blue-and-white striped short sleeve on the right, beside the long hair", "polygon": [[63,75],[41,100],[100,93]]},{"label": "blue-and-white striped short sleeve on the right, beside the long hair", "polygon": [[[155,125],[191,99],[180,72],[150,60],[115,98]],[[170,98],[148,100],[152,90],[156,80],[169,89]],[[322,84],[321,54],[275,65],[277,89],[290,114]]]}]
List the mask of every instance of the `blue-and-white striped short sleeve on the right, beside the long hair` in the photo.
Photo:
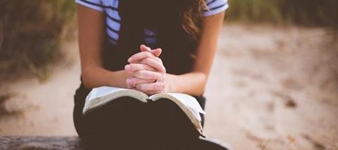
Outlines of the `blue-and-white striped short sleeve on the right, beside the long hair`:
[{"label": "blue-and-white striped short sleeve on the right, beside the long hair", "polygon": [[208,7],[204,9],[203,16],[215,15],[229,8],[227,0],[207,0],[206,5]]}]

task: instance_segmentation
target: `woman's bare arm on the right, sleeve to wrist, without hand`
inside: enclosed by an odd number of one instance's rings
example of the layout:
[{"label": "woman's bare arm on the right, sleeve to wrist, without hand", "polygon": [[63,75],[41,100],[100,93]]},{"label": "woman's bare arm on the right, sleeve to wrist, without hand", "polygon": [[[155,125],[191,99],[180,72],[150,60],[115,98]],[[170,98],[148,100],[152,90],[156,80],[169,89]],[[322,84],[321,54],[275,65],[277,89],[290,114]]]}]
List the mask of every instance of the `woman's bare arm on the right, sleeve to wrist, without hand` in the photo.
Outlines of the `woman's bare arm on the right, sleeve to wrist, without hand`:
[{"label": "woman's bare arm on the right, sleeve to wrist, without hand", "polygon": [[196,51],[196,62],[192,72],[182,75],[167,74],[170,92],[201,95],[206,86],[213,57],[218,42],[218,34],[223,25],[225,12],[204,18],[201,41]]}]

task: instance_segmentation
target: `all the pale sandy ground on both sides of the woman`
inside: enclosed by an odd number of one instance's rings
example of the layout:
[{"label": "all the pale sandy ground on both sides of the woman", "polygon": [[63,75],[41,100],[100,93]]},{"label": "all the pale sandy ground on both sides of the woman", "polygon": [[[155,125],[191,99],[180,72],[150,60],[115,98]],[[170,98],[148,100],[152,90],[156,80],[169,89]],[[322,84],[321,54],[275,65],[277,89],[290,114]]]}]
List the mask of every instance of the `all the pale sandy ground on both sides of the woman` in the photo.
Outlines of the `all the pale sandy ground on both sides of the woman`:
[{"label": "all the pale sandy ground on both sides of the woman", "polygon": [[[0,135],[76,135],[77,43],[49,81],[0,86]],[[234,149],[338,149],[338,43],[321,28],[223,27],[205,135]]]}]

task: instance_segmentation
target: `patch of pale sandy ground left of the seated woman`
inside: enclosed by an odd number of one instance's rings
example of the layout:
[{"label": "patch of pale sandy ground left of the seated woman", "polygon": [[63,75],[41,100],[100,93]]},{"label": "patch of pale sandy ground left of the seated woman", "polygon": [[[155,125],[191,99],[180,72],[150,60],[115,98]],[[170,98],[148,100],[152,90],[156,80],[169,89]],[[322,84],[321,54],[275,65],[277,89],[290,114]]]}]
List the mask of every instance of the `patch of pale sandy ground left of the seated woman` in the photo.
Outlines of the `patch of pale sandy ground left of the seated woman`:
[{"label": "patch of pale sandy ground left of the seated woman", "polygon": [[73,95],[80,84],[77,43],[64,48],[70,58],[54,68],[45,83],[23,79],[1,85],[0,95],[10,98],[0,112],[0,135],[76,134],[72,115]]}]

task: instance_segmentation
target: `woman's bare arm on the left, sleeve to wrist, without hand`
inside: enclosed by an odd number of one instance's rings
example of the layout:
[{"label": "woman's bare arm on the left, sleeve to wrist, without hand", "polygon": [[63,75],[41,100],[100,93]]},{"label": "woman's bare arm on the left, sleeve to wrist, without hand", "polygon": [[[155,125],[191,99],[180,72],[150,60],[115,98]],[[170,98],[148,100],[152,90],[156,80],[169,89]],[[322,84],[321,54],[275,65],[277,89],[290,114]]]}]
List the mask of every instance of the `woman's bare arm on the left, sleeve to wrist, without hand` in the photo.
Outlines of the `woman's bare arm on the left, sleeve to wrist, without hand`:
[{"label": "woman's bare arm on the left, sleeve to wrist, without hand", "polygon": [[101,48],[104,39],[104,13],[77,5],[79,48],[84,86],[126,88],[124,70],[109,71],[102,67]]}]

